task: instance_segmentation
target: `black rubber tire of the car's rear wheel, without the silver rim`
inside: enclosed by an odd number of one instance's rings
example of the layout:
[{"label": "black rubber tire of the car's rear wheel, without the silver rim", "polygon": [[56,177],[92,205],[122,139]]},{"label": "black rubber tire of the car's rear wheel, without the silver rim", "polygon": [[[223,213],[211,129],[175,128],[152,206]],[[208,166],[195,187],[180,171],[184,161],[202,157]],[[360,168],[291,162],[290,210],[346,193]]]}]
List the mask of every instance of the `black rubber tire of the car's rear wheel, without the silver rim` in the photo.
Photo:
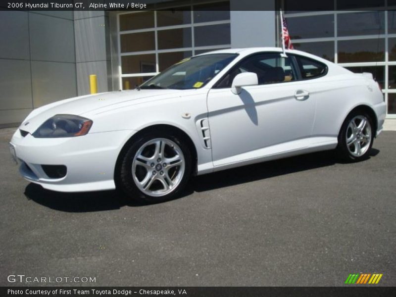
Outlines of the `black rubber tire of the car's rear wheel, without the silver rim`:
[{"label": "black rubber tire of the car's rear wheel, without the silver rim", "polygon": [[[350,121],[355,117],[355,116],[364,116],[367,118],[367,120],[370,123],[370,127],[371,127],[371,141],[370,141],[370,146],[369,148],[366,150],[366,152],[364,154],[362,154],[361,156],[353,156],[348,148],[347,148],[347,139],[346,139],[346,135],[347,135],[347,129],[348,129],[348,125],[350,123]],[[342,158],[343,160],[349,161],[349,162],[358,162],[361,160],[365,160],[369,157],[370,155],[370,150],[373,146],[374,143],[374,136],[375,136],[376,131],[374,131],[374,125],[373,125],[373,120],[371,118],[370,115],[368,115],[366,112],[364,111],[354,111],[352,113],[350,113],[347,118],[345,119],[341,130],[340,130],[340,134],[338,136],[338,155],[340,158]]]}]

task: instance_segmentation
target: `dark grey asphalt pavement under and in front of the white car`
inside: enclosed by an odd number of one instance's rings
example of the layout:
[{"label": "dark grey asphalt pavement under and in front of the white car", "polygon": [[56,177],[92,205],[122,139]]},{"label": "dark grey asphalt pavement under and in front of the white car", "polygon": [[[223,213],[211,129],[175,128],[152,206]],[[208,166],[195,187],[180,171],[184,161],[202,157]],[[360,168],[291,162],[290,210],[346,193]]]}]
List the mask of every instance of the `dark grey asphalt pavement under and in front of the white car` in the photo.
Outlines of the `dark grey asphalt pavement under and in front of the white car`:
[{"label": "dark grey asphalt pavement under and in front of the white car", "polygon": [[95,277],[85,284],[95,286],[342,286],[350,273],[383,273],[379,285],[396,286],[396,132],[364,162],[331,152],[271,161],[139,205],[23,180],[12,130],[0,130],[0,286],[24,285],[10,274]]}]

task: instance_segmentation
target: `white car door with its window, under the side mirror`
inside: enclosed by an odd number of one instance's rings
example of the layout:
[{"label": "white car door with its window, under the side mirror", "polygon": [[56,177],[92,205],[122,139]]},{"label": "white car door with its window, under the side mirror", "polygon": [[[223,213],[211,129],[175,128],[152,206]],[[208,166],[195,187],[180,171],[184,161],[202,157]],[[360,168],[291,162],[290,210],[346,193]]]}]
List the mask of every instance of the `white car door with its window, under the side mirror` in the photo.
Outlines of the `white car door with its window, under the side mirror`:
[{"label": "white car door with its window, under the side mirror", "polygon": [[[307,146],[315,115],[309,86],[292,57],[278,52],[246,57],[209,91],[207,106],[214,166]],[[257,86],[235,95],[233,78],[254,72]],[[305,141],[304,141],[305,140]]]}]

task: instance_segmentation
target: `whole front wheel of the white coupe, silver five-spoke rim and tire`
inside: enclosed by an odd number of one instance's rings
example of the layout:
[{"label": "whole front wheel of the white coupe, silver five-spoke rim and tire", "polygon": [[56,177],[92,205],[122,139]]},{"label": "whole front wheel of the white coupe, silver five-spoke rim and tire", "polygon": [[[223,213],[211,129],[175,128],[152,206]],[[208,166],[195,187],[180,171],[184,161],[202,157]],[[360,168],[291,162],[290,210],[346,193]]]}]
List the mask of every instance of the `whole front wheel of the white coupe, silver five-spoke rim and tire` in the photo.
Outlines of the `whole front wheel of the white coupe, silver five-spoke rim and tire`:
[{"label": "whole front wheel of the white coupe, silver five-spoke rim and tire", "polygon": [[119,186],[137,201],[176,198],[191,176],[191,153],[181,137],[152,132],[134,141],[121,156]]}]

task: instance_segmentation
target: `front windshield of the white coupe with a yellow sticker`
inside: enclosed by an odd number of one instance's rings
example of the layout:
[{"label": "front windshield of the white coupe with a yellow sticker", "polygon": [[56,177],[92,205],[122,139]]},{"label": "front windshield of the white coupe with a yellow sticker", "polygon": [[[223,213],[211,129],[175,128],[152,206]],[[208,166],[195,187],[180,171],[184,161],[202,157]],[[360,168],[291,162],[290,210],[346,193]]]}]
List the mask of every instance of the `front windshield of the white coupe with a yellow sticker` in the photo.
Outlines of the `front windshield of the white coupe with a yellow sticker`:
[{"label": "front windshield of the white coupe with a yellow sticker", "polygon": [[198,89],[235,59],[234,53],[213,53],[181,60],[154,76],[141,89]]}]

